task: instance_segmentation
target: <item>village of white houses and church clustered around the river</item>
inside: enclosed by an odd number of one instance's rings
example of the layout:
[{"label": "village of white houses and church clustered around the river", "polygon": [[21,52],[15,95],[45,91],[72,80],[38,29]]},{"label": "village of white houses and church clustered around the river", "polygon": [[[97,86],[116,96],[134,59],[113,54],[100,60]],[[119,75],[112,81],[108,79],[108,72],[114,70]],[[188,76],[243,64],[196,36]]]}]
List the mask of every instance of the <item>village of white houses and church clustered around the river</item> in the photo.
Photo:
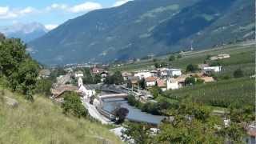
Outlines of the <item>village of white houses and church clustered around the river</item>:
[{"label": "village of white houses and church clustered around the river", "polygon": [[[214,61],[230,58],[229,54],[218,54],[210,59]],[[86,69],[86,72],[84,71]],[[63,102],[63,94],[74,91],[90,115],[102,123],[111,122],[111,112],[102,109],[103,98],[128,98],[133,96],[138,102],[156,102],[154,91],[178,90],[194,84],[215,82],[214,74],[222,73],[222,66],[209,64],[188,65],[186,70],[178,67],[162,66],[151,70],[118,71],[109,70],[109,66],[66,66],[65,73],[58,75],[51,88],[51,99]],[[50,70],[42,70],[41,78],[50,77]],[[88,82],[88,79],[95,82]],[[117,79],[110,82],[110,79]],[[97,82],[96,82],[97,81]],[[118,81],[118,82],[114,82]]]}]

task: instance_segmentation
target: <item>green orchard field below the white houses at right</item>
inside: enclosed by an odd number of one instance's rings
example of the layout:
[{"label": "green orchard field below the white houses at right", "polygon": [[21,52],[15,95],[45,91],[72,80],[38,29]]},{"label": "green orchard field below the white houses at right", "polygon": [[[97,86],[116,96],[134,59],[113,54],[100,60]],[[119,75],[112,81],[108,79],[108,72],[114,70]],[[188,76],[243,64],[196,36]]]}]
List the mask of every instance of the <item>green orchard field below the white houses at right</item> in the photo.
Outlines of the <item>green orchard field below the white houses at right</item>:
[{"label": "green orchard field below the white houses at right", "polygon": [[209,106],[227,107],[234,102],[238,102],[241,106],[254,106],[254,82],[253,78],[233,78],[221,82],[170,90],[166,92],[166,97],[180,99],[191,96],[196,102],[202,102]]}]

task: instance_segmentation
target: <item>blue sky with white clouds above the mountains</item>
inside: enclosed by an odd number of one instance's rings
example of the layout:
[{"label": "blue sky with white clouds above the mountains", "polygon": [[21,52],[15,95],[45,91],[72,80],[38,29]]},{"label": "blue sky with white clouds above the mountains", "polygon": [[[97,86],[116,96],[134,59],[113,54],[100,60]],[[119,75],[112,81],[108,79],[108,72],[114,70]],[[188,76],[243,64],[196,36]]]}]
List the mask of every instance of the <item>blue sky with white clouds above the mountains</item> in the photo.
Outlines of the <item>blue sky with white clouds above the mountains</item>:
[{"label": "blue sky with white clouds above the mountains", "polygon": [[91,10],[121,6],[131,0],[0,0],[0,26],[40,22],[47,29]]}]

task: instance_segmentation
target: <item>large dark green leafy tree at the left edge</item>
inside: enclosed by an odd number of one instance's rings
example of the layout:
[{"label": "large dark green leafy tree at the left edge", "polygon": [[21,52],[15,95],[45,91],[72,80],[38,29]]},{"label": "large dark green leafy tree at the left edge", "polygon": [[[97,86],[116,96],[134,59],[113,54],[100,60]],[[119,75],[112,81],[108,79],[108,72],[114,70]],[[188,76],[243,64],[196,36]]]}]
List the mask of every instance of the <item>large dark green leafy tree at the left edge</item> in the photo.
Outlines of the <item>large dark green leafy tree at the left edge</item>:
[{"label": "large dark green leafy tree at the left edge", "polygon": [[26,54],[26,45],[20,39],[5,39],[0,45],[0,70],[7,78],[8,86],[32,97],[38,78],[39,66]]}]

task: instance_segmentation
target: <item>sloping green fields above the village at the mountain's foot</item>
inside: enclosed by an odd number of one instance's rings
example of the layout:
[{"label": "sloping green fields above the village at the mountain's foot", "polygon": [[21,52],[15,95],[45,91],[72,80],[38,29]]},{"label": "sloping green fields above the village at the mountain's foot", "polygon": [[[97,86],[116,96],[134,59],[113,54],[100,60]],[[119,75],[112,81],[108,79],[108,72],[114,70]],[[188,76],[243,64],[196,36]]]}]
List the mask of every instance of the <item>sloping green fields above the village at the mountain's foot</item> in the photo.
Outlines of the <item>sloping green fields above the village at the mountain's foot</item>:
[{"label": "sloping green fields above the village at the mountain's foot", "polygon": [[[218,49],[194,51],[183,54],[182,58],[179,58],[173,62],[169,62],[167,56],[158,57],[158,63],[167,62],[169,66],[174,68],[181,68],[183,71],[186,70],[186,66],[192,64],[202,64],[207,55],[217,54],[230,54],[230,58],[220,60],[223,66],[223,74],[232,75],[234,70],[242,68],[246,76],[254,74],[255,67],[255,46],[226,46]],[[210,61],[206,61],[210,62]],[[110,70],[145,70],[153,69],[153,60],[142,60],[141,62],[135,62],[133,64],[126,64],[120,67],[113,67]]]}]

